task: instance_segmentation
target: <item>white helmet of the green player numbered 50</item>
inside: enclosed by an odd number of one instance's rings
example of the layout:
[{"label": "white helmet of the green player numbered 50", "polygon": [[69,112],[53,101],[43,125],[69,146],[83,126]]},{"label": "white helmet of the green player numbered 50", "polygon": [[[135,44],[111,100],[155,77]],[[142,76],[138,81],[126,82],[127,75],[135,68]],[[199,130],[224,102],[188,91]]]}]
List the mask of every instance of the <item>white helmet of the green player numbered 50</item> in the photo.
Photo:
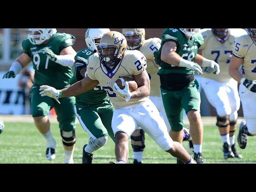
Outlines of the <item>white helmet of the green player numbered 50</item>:
[{"label": "white helmet of the green player numbered 50", "polygon": [[99,43],[95,43],[95,39],[102,38],[102,36],[110,32],[110,29],[92,29],[88,28],[85,32],[85,42],[88,48],[92,51],[96,50],[97,51],[97,46],[100,45]]}]

